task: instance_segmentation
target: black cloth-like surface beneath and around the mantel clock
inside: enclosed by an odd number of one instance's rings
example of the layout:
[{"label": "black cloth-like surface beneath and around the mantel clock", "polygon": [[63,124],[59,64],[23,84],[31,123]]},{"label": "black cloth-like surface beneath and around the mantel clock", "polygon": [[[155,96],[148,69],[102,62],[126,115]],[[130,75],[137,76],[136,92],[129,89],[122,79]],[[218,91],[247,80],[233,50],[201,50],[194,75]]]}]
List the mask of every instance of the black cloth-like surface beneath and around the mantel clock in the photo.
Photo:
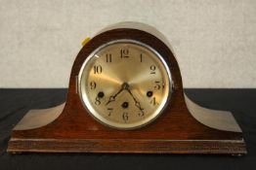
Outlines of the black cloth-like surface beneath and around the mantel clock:
[{"label": "black cloth-like surface beneath and around the mantel clock", "polygon": [[247,154],[6,153],[13,127],[30,109],[65,101],[65,88],[0,88],[0,169],[253,169],[256,166],[256,89],[186,89],[197,104],[232,111]]}]

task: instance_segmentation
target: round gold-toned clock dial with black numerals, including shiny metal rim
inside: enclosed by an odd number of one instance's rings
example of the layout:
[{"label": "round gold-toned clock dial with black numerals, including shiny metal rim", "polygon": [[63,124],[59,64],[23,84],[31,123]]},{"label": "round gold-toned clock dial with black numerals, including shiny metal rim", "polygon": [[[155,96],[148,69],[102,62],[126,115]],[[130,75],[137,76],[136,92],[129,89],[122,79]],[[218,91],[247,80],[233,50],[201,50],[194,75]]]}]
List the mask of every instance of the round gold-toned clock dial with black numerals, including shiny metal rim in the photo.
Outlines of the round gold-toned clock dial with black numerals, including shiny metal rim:
[{"label": "round gold-toned clock dial with black numerals, including shiny metal rim", "polygon": [[131,129],[161,114],[171,96],[171,82],[169,68],[157,51],[138,41],[117,40],[87,57],[78,90],[95,119]]}]

